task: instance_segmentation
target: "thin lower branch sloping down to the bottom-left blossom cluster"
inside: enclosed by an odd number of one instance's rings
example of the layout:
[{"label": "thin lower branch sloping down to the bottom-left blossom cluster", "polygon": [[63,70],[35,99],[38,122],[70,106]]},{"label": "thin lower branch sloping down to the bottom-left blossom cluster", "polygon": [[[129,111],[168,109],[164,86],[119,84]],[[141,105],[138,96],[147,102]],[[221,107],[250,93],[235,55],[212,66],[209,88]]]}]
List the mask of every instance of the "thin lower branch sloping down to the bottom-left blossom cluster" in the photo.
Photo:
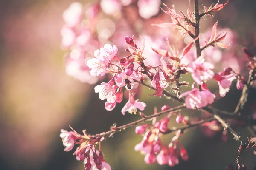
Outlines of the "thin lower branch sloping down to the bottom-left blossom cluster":
[{"label": "thin lower branch sloping down to the bottom-left blossom cluster", "polygon": [[119,126],[119,127],[112,127],[112,130],[109,130],[107,132],[103,132],[103,133],[100,133],[100,134],[96,134],[96,135],[93,135],[93,136],[90,136],[92,139],[96,139],[97,137],[109,137],[109,136],[112,136],[114,133],[116,132],[119,132],[121,130],[125,130],[126,128],[128,127],[131,127],[131,126],[135,126],[141,122],[145,122],[147,120],[150,120],[154,117],[158,117],[158,116],[161,116],[165,113],[169,113],[171,111],[177,111],[179,109],[182,109],[182,108],[185,108],[186,106],[185,105],[180,105],[180,106],[177,106],[177,107],[174,107],[174,108],[170,108],[166,111],[161,111],[161,112],[158,112],[158,113],[154,113],[150,116],[147,116],[145,118],[142,118],[142,119],[139,119],[137,121],[134,121],[134,122],[131,122],[131,123],[128,123],[126,125],[122,125],[122,126]]}]

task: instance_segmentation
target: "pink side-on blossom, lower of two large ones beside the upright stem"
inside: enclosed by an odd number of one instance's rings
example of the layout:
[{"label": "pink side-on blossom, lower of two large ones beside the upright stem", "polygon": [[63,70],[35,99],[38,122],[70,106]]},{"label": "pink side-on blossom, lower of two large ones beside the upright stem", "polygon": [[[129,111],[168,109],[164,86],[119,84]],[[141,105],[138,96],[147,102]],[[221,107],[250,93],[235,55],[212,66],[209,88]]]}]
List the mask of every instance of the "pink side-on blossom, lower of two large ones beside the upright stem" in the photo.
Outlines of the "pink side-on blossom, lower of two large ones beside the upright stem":
[{"label": "pink side-on blossom, lower of two large ones beside the upright stem", "polygon": [[183,94],[180,94],[179,98],[186,96],[185,104],[187,108],[203,108],[208,103],[205,99],[204,93],[201,93],[198,88],[193,88],[190,91],[186,91]]}]

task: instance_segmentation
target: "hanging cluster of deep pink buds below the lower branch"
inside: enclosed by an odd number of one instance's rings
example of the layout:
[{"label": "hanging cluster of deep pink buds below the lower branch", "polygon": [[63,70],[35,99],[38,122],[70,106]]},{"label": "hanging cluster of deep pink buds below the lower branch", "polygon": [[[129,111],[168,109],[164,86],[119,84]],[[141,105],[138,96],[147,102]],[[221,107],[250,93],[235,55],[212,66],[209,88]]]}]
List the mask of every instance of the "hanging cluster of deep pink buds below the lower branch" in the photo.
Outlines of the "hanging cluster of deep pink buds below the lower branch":
[{"label": "hanging cluster of deep pink buds below the lower branch", "polygon": [[[163,106],[162,111],[168,111],[169,106]],[[182,136],[181,131],[177,131],[176,136],[172,138],[172,141],[168,146],[164,145],[161,136],[169,133],[168,128],[169,119],[172,115],[177,115],[177,123],[185,123],[188,125],[190,122],[181,115],[181,113],[170,112],[168,116],[156,121],[153,119],[152,124],[143,124],[136,127],[135,132],[137,135],[143,133],[143,140],[135,146],[135,151],[140,151],[145,154],[145,163],[154,164],[157,161],[158,164],[168,164],[173,167],[179,164],[179,156],[187,161],[189,159],[186,149],[178,141]]]}]

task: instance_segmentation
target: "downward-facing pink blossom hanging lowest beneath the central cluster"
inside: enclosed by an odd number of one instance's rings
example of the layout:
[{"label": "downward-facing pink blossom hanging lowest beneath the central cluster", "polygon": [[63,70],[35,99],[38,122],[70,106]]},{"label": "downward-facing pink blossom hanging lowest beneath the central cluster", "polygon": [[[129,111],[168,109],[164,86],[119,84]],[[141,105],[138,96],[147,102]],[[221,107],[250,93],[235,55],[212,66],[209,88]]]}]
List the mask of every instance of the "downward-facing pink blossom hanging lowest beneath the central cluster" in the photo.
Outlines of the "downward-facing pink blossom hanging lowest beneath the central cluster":
[{"label": "downward-facing pink blossom hanging lowest beneath the central cluster", "polygon": [[147,105],[143,102],[139,102],[139,100],[134,100],[134,96],[130,93],[129,94],[129,101],[125,104],[125,106],[122,108],[122,114],[125,115],[125,112],[128,111],[129,113],[137,113],[137,108],[141,111],[144,110],[144,108]]}]

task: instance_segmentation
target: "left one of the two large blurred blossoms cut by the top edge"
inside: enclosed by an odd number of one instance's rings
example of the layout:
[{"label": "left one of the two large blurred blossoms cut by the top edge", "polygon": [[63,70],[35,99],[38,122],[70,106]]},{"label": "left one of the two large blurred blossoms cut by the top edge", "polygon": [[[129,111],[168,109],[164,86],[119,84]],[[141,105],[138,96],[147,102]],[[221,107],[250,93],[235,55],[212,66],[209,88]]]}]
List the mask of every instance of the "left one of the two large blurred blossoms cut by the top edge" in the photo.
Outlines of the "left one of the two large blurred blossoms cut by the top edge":
[{"label": "left one of the two large blurred blossoms cut by the top edge", "polygon": [[122,4],[119,0],[101,0],[100,7],[105,14],[113,15],[121,11]]}]

